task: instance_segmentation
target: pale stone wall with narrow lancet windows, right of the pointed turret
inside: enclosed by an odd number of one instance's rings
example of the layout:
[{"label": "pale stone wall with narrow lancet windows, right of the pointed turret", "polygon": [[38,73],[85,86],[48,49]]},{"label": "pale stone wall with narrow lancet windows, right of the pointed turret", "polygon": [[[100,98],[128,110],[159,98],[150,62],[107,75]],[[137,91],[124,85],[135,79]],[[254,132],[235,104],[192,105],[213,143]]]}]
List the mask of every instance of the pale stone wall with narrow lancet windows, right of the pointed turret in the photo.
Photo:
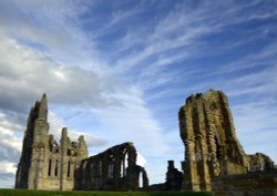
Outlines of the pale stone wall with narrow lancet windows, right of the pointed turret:
[{"label": "pale stone wall with narrow lancet windows, right of the pointed turret", "polygon": [[50,135],[49,146],[48,171],[42,189],[73,189],[75,169],[88,157],[83,136],[78,142],[71,142],[68,130],[63,128],[60,145]]}]

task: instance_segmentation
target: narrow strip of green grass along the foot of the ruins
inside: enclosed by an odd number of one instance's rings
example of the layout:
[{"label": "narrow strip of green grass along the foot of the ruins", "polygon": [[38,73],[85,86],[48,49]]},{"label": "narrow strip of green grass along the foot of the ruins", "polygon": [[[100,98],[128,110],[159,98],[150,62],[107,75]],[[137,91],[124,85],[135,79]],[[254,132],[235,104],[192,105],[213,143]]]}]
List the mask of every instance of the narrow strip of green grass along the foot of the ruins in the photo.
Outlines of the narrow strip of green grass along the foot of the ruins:
[{"label": "narrow strip of green grass along the foot of the ruins", "polygon": [[28,189],[0,189],[0,196],[212,196],[211,193],[184,192],[52,192]]}]

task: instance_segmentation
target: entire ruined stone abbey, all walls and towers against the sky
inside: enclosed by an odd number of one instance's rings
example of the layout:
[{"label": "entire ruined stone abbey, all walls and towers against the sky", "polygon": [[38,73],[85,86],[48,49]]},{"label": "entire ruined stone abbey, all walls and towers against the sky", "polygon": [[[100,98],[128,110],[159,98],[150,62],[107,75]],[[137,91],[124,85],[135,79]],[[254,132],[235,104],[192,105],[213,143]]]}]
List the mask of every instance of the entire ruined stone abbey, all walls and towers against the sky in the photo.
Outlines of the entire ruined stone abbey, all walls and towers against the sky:
[{"label": "entire ruined stone abbey, all walls and towers against the sky", "polygon": [[168,161],[166,182],[148,186],[146,171],[136,165],[133,143],[123,143],[88,157],[83,136],[60,143],[49,134],[43,94],[31,109],[18,165],[16,188],[82,190],[212,190],[214,196],[277,194],[277,171],[263,153],[248,155],[236,136],[227,96],[220,91],[191,95],[179,109],[185,158],[179,172]]}]

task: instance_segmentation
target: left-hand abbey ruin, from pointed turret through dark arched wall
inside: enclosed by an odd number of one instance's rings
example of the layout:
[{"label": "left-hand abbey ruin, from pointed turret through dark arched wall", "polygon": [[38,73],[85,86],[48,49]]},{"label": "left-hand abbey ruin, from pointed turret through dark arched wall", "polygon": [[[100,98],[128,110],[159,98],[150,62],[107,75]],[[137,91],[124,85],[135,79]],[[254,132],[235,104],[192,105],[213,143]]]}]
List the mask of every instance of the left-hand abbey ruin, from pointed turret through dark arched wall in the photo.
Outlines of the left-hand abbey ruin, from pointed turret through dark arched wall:
[{"label": "left-hand abbey ruin, from pointed turret through dark arched wall", "polygon": [[28,117],[16,188],[137,190],[147,186],[147,174],[136,165],[132,143],[88,157],[82,135],[71,142],[63,128],[60,144],[54,141],[49,134],[47,95],[35,102]]}]

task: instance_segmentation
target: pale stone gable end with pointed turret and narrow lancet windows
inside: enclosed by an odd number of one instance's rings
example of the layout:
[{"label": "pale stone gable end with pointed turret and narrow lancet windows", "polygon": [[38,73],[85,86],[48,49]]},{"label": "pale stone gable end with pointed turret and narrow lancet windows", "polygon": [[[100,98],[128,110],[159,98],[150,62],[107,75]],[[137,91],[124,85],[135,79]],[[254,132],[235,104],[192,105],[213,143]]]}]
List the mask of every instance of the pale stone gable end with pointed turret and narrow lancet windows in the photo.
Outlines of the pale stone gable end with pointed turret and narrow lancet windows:
[{"label": "pale stone gable end with pointed turret and narrow lancet windows", "polygon": [[71,142],[62,130],[61,145],[49,135],[48,101],[43,94],[31,107],[24,132],[16,188],[73,189],[74,169],[88,157],[83,136]]}]

